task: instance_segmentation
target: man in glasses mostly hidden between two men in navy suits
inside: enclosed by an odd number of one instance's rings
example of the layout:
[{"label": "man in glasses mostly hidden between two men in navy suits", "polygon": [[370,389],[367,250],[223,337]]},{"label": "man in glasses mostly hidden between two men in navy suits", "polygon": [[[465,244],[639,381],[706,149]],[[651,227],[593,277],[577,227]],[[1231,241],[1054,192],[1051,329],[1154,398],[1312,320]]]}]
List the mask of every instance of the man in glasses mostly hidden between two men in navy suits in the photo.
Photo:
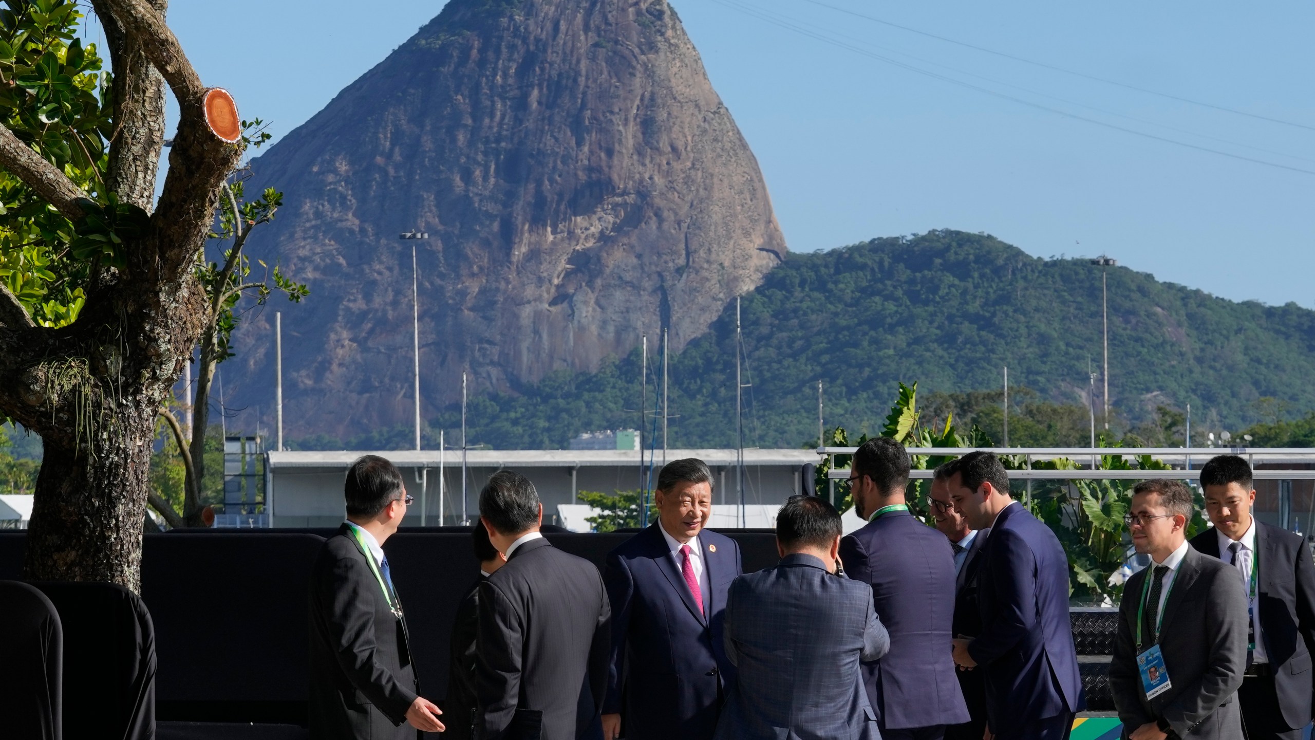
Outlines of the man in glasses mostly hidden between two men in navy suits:
[{"label": "man in glasses mostly hidden between two men in navy suits", "polygon": [[[949,500],[949,475],[953,470],[953,462],[936,467],[927,498],[936,529],[949,540],[949,546],[955,552],[955,637],[976,637],[982,629],[982,618],[977,608],[977,571],[982,564],[982,545],[986,544],[990,529],[973,529],[964,515],[955,511],[955,504]],[[982,681],[982,672],[956,673],[970,719],[947,727],[945,740],[982,740],[986,731],[986,683]]]}]

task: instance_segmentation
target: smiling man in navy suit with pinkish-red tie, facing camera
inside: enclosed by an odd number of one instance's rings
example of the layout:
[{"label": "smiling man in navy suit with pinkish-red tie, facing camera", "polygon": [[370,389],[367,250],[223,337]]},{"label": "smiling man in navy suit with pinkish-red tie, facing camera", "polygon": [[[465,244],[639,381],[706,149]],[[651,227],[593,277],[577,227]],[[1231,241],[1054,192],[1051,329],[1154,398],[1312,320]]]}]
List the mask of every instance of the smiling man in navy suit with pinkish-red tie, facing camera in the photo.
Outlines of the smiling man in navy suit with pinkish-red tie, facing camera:
[{"label": "smiling man in navy suit with pinkish-red tie, facing camera", "polygon": [[711,740],[735,685],[726,657],[726,590],[740,574],[739,545],[704,529],[713,473],[701,460],[668,462],[654,492],[658,521],[608,554],[611,661],[604,737]]}]

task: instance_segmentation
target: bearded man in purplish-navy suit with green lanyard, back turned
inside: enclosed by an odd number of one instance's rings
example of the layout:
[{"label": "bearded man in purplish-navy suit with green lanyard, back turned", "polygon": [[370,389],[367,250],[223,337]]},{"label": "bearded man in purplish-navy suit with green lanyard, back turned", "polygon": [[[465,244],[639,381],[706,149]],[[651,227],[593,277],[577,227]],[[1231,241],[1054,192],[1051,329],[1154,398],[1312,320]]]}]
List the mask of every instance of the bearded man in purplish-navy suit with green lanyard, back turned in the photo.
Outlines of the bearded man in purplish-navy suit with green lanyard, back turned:
[{"label": "bearded man in purplish-navy suit with green lanyard, back turned", "polygon": [[955,556],[945,537],[905,503],[909,453],[880,437],[853,453],[849,491],[869,523],[840,541],[849,578],[872,585],[890,652],[864,664],[868,700],[885,740],[940,740],[945,726],[969,720],[955,678],[951,632]]}]

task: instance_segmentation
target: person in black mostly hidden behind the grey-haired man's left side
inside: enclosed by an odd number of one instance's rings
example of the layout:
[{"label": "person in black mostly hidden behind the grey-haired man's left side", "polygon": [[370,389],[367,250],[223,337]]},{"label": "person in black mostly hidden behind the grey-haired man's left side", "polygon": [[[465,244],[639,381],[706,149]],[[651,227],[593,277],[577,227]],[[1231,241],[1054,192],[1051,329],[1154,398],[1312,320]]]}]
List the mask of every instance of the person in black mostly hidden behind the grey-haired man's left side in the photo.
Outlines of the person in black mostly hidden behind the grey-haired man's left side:
[{"label": "person in black mostly hidden behind the grey-haired man's left side", "polygon": [[447,649],[447,700],[443,702],[447,707],[447,729],[443,740],[475,737],[475,712],[479,704],[475,698],[475,635],[480,619],[480,583],[506,562],[489,541],[489,532],[483,524],[471,528],[471,542],[475,560],[480,561],[480,577],[456,607],[456,620],[452,623],[452,639]]}]

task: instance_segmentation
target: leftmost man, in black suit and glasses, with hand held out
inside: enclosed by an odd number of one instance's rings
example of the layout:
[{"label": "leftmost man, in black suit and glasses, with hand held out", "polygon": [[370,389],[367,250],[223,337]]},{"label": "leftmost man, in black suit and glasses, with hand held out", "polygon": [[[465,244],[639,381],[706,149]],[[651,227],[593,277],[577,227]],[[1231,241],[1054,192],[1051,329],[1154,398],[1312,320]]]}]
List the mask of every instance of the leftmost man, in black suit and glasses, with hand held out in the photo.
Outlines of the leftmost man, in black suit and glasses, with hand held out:
[{"label": "leftmost man, in black suit and glasses, with hand held out", "polygon": [[383,549],[412,496],[397,467],[372,454],[347,470],[345,496],[347,521],[325,541],[310,577],[310,736],[441,732],[442,712],[417,695],[402,603]]}]

